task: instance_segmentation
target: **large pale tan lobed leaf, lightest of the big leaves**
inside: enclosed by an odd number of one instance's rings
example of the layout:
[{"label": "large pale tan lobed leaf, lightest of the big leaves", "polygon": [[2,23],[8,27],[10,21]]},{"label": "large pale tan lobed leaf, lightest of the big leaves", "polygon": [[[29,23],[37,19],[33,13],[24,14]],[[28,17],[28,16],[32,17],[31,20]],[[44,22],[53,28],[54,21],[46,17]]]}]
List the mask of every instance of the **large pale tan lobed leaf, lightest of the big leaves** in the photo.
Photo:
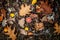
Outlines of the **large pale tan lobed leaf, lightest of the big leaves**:
[{"label": "large pale tan lobed leaf, lightest of the big leaves", "polygon": [[24,4],[22,4],[21,9],[19,10],[19,15],[20,16],[25,16],[26,14],[30,14],[29,13],[30,11],[31,11],[30,10],[30,5],[25,4],[25,6],[24,6]]}]

